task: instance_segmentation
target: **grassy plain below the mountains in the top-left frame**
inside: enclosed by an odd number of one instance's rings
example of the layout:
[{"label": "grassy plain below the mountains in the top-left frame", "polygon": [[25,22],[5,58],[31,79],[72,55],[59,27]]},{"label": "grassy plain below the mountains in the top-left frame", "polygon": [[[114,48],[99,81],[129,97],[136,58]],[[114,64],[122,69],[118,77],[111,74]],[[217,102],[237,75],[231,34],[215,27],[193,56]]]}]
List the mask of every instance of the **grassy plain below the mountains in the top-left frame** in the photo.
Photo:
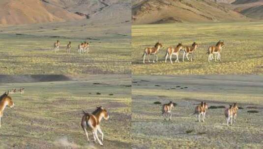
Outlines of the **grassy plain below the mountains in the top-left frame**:
[{"label": "grassy plain below the mountains in the top-left frame", "polygon": [[[0,74],[130,74],[130,25],[84,21],[3,26]],[[53,44],[60,41],[55,53]],[[66,45],[72,42],[72,53]],[[90,42],[88,55],[78,54]]]}]

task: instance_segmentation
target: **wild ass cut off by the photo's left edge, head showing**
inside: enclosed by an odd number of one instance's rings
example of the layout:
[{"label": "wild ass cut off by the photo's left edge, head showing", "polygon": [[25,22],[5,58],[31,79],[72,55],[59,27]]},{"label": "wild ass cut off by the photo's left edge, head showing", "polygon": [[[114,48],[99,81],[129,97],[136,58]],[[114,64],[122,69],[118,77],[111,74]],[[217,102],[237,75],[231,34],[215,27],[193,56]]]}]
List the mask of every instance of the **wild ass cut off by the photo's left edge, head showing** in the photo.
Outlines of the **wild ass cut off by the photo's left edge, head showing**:
[{"label": "wild ass cut off by the photo's left edge, head showing", "polygon": [[1,118],[3,117],[3,110],[8,106],[13,108],[15,106],[12,98],[9,96],[9,91],[5,92],[2,96],[0,96],[0,127],[1,127]]}]

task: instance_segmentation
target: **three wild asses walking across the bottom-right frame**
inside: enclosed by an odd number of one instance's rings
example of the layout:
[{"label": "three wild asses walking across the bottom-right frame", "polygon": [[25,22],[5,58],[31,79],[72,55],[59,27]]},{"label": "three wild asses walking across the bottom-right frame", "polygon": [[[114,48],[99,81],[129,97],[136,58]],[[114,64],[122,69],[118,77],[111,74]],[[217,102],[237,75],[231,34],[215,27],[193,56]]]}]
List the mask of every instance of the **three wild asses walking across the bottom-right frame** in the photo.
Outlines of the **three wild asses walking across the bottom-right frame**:
[{"label": "three wild asses walking across the bottom-right frame", "polygon": [[[174,107],[174,103],[170,101],[167,104],[163,104],[162,106],[162,115],[164,116],[164,119],[166,120],[169,117],[169,120],[172,119],[172,108]],[[200,121],[200,117],[202,115],[202,121],[205,122],[205,114],[206,110],[208,109],[208,104],[206,102],[201,102],[200,105],[197,105],[195,107],[195,111],[192,115],[195,115],[198,122]],[[234,118],[234,123],[236,122],[236,115],[237,115],[238,106],[237,103],[233,103],[229,105],[229,108],[225,109],[225,117],[227,120],[227,125],[232,125],[232,121]],[[170,115],[170,116],[169,116]]]}]

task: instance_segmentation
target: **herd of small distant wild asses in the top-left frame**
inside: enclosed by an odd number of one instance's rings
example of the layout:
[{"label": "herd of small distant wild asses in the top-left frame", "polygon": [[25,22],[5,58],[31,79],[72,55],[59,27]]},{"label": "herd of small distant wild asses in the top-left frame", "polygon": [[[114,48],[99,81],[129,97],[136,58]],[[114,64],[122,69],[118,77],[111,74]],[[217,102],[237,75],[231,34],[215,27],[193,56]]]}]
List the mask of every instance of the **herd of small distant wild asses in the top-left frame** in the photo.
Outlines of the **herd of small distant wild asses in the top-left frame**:
[{"label": "herd of small distant wild asses in the top-left frame", "polygon": [[[59,45],[60,45],[60,43],[57,40],[54,43],[54,50],[55,50],[56,53],[59,51]],[[66,50],[67,50],[68,53],[71,52],[71,42],[68,42]],[[78,45],[78,53],[80,53],[80,54],[82,54],[82,53],[88,54],[89,53],[89,43],[88,42],[84,42],[84,43],[79,44]]]}]

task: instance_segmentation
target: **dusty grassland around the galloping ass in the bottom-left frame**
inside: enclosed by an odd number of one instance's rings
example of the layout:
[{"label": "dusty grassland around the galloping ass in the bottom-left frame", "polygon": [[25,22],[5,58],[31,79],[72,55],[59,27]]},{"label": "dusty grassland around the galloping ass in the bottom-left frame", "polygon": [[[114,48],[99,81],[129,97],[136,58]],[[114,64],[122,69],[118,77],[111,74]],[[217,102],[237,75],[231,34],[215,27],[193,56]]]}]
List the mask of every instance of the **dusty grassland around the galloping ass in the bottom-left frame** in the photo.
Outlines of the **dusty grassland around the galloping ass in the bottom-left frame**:
[{"label": "dusty grassland around the galloping ass in the bottom-left frame", "polygon": [[[131,145],[131,78],[127,75],[89,75],[60,82],[0,84],[12,94],[15,109],[6,108],[0,128],[0,149],[127,149]],[[95,83],[95,84],[93,84]],[[101,93],[101,95],[97,95]],[[113,95],[110,95],[113,94]],[[80,126],[82,109],[102,105],[110,119],[102,120],[104,148],[87,143]]]}]

